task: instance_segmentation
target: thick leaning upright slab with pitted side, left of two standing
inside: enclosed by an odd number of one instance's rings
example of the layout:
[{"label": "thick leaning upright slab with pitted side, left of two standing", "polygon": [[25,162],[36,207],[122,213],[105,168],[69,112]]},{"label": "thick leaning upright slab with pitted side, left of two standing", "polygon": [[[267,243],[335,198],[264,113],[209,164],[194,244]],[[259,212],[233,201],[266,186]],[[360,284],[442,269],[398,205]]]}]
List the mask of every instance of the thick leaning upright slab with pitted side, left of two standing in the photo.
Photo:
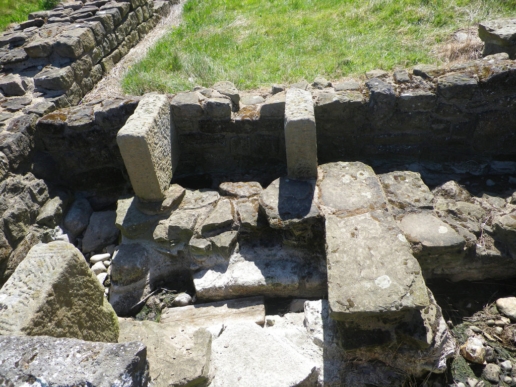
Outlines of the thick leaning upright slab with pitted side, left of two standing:
[{"label": "thick leaning upright slab with pitted side, left of two standing", "polygon": [[136,195],[147,201],[163,200],[172,178],[172,159],[177,157],[172,156],[167,97],[144,96],[118,132],[117,143]]}]

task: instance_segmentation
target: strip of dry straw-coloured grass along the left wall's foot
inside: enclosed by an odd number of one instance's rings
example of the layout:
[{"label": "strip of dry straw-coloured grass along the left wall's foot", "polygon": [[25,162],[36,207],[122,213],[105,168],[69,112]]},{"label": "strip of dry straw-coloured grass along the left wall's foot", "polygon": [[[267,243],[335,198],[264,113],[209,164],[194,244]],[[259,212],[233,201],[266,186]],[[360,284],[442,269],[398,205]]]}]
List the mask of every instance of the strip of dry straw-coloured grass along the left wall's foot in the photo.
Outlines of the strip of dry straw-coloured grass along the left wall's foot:
[{"label": "strip of dry straw-coloured grass along the left wall's foot", "polygon": [[178,4],[173,5],[170,14],[162,19],[149,34],[135,45],[127,55],[95,85],[93,90],[84,96],[83,102],[127,95],[120,86],[127,69],[130,65],[143,58],[147,54],[147,50],[149,50],[159,38],[165,35],[172,26],[179,25],[183,12],[183,3],[185,1],[186,0],[180,0]]}]

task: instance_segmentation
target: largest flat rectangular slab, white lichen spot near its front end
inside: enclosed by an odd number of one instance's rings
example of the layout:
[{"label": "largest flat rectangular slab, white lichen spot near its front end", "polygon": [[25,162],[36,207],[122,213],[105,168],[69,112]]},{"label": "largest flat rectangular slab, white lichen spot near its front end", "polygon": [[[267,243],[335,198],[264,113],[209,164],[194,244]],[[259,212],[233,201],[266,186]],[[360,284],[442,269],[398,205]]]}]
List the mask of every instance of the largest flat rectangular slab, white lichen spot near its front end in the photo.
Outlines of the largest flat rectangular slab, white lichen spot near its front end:
[{"label": "largest flat rectangular slab, white lichen spot near its front end", "polygon": [[326,216],[330,316],[423,309],[429,304],[420,265],[394,219],[383,211]]}]

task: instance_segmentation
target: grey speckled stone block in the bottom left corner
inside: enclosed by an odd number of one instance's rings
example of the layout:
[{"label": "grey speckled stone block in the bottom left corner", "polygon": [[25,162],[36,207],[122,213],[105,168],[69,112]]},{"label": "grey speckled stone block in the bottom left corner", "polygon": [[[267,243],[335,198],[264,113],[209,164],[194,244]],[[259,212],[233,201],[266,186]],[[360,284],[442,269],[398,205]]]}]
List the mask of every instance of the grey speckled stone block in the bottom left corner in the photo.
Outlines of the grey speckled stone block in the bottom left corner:
[{"label": "grey speckled stone block in the bottom left corner", "polygon": [[146,347],[49,336],[0,336],[0,385],[145,387]]}]

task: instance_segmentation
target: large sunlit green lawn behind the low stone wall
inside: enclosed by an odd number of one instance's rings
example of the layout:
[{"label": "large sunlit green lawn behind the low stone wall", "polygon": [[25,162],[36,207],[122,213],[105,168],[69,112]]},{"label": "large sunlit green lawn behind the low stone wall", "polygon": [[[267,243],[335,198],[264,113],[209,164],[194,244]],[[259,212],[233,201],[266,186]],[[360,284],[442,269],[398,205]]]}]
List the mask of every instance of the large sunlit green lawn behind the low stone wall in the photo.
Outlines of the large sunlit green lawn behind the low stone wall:
[{"label": "large sunlit green lawn behind the low stone wall", "polygon": [[133,94],[218,80],[250,89],[436,63],[454,30],[515,11],[516,0],[188,0],[182,24],[122,84]]}]

